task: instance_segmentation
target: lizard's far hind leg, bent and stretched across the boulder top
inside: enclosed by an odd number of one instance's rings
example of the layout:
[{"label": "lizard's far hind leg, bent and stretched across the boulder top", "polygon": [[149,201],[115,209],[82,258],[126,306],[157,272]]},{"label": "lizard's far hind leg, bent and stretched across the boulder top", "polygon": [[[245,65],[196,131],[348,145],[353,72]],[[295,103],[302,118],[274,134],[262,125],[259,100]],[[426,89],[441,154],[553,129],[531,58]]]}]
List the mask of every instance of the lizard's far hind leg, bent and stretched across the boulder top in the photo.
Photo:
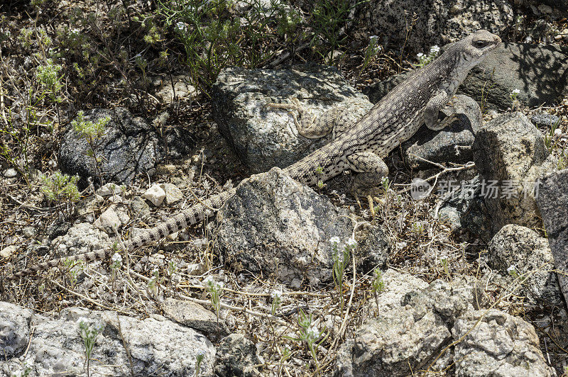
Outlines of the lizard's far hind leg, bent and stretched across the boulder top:
[{"label": "lizard's far hind leg, bent and stretched across the boulder top", "polygon": [[[310,111],[300,104],[298,99],[291,99],[292,103],[266,103],[271,108],[283,108],[290,111],[297,132],[307,139],[319,139],[332,133],[332,139],[351,128],[353,121],[349,118],[349,106],[337,106],[325,111],[321,116],[312,116]],[[300,119],[295,114],[297,111]]]}]

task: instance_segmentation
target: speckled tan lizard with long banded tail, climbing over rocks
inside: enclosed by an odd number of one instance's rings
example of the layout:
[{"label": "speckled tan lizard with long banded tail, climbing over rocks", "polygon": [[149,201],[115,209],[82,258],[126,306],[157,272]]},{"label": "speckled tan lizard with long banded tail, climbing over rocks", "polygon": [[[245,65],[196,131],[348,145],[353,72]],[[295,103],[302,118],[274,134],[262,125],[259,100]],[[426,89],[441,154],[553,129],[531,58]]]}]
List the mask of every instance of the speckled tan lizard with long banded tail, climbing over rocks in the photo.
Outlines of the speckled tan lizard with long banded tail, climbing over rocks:
[{"label": "speckled tan lizard with long banded tail, climbing over rocks", "polygon": [[[332,133],[327,145],[307,154],[306,157],[285,167],[283,171],[302,184],[313,186],[351,169],[356,173],[354,187],[358,190],[381,184],[388,176],[383,158],[412,137],[423,123],[430,130],[442,130],[452,122],[452,116],[438,121],[439,111],[448,103],[464,81],[470,69],[479,64],[501,43],[501,38],[486,30],[478,30],[449,45],[434,61],[395,86],[381,101],[353,125],[346,125],[342,111],[331,109],[320,118],[305,116],[298,101],[293,103],[268,103],[273,108],[297,111],[301,118],[295,124],[300,135],[315,138]],[[222,208],[223,203],[234,196],[236,188],[215,194],[197,205],[141,230],[126,240],[123,249],[130,251],[144,244],[161,240],[204,219],[207,210]],[[102,249],[71,257],[52,259],[6,276],[6,281],[60,266],[65,261],[95,261],[111,257],[114,249]]]}]

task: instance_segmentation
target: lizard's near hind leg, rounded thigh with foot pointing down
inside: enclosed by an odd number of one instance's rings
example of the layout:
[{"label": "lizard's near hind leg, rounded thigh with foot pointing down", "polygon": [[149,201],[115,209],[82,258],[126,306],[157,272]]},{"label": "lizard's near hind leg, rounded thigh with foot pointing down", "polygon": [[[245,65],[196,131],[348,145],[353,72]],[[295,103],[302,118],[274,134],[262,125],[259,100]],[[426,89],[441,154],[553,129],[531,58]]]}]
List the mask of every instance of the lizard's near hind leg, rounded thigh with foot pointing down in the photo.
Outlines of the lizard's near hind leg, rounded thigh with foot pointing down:
[{"label": "lizard's near hind leg, rounded thigh with foot pointing down", "polygon": [[375,208],[372,198],[376,196],[374,191],[381,186],[383,178],[388,176],[388,167],[383,159],[373,152],[355,152],[347,156],[347,160],[351,169],[359,172],[353,181],[351,190],[358,202],[359,195],[368,198],[369,209],[374,217]]}]

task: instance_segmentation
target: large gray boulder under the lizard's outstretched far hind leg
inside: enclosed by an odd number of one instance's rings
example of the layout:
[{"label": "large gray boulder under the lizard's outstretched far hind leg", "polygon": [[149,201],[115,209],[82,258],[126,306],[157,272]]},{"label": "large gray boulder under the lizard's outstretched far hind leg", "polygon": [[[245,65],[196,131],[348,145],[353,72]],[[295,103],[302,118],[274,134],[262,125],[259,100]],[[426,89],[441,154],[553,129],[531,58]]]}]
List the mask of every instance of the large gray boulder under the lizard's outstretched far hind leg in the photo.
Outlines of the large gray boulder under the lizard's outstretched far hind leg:
[{"label": "large gray boulder under the lizard's outstretched far hind leg", "polygon": [[299,99],[312,116],[349,104],[349,118],[358,120],[372,107],[342,77],[329,67],[302,70],[224,69],[212,88],[214,118],[219,131],[253,173],[271,167],[287,167],[329,142],[297,134],[292,115],[266,103]]}]

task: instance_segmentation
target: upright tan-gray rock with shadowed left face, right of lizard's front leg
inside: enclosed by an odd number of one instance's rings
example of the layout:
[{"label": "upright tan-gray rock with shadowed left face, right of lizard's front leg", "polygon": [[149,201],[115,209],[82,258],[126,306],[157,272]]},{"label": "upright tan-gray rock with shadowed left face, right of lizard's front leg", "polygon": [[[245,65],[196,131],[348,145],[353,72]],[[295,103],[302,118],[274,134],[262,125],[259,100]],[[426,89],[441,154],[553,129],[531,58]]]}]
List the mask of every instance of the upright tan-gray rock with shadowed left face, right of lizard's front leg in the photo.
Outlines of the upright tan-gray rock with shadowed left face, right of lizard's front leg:
[{"label": "upright tan-gray rock with shadowed left face, right of lizard's front leg", "polygon": [[[506,224],[540,226],[535,187],[556,164],[539,130],[521,113],[503,114],[479,130],[473,150],[493,232]],[[489,191],[492,183],[497,188]]]}]

